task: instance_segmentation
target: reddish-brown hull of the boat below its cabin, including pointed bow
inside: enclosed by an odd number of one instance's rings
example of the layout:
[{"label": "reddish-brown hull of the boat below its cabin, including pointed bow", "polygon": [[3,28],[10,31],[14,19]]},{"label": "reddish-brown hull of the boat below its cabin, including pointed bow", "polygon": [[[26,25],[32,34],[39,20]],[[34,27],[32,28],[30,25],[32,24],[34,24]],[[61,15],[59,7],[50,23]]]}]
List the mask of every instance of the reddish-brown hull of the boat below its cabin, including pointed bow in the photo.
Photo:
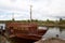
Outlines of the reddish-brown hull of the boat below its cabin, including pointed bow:
[{"label": "reddish-brown hull of the boat below its cabin, including pointed bow", "polygon": [[13,30],[13,32],[11,32],[9,34],[9,38],[22,38],[22,39],[27,39],[27,40],[31,40],[31,41],[38,41],[42,38],[42,35],[47,32],[47,30],[42,30],[42,32],[38,32],[38,34],[31,34],[31,33],[21,33],[22,31]]}]

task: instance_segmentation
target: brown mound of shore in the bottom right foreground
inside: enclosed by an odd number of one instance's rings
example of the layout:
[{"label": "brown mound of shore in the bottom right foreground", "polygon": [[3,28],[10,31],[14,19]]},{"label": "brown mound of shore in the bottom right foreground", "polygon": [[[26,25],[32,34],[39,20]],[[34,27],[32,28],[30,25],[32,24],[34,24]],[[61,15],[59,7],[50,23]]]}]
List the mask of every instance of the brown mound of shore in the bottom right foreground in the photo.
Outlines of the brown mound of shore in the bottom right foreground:
[{"label": "brown mound of shore in the bottom right foreground", "polygon": [[47,40],[39,40],[38,42],[35,43],[65,43],[65,40],[61,40],[58,38],[51,38]]}]

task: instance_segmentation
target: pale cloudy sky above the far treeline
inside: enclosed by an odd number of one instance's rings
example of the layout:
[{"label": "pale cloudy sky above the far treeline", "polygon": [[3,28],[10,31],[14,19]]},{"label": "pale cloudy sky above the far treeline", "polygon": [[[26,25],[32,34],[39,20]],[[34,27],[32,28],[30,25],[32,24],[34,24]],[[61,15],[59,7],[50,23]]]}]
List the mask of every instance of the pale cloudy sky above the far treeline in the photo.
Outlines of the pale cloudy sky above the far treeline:
[{"label": "pale cloudy sky above the far treeline", "polygon": [[32,19],[65,18],[65,0],[0,0],[0,20],[30,19],[30,4]]}]

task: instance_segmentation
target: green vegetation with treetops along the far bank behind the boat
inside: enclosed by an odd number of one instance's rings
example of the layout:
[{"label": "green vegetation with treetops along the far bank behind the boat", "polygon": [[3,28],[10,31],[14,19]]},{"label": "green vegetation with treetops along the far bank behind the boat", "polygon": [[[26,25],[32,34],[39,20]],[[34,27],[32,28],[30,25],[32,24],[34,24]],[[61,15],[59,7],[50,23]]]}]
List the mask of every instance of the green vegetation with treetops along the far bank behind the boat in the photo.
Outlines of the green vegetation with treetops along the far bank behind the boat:
[{"label": "green vegetation with treetops along the far bank behind the boat", "polygon": [[[0,23],[10,23],[10,22],[17,22],[17,23],[30,23],[29,19],[27,20],[0,20]],[[38,20],[38,19],[31,19],[31,23],[36,23],[39,26],[64,26],[65,27],[65,19],[60,18],[60,20]]]}]

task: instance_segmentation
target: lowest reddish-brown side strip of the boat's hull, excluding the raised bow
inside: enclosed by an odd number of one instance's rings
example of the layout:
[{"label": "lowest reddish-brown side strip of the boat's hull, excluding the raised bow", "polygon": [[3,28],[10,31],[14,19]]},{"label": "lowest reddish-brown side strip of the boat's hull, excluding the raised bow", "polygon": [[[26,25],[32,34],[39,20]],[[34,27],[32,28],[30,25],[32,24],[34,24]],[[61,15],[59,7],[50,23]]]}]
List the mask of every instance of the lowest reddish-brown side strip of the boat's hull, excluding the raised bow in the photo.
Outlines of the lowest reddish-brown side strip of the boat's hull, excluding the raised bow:
[{"label": "lowest reddish-brown side strip of the boat's hull, excluding the raised bow", "polygon": [[32,41],[38,41],[41,39],[41,35],[36,35],[36,34],[21,34],[21,33],[17,33],[17,34],[11,34],[10,38],[22,38],[22,39],[28,39],[28,40],[32,40]]}]

